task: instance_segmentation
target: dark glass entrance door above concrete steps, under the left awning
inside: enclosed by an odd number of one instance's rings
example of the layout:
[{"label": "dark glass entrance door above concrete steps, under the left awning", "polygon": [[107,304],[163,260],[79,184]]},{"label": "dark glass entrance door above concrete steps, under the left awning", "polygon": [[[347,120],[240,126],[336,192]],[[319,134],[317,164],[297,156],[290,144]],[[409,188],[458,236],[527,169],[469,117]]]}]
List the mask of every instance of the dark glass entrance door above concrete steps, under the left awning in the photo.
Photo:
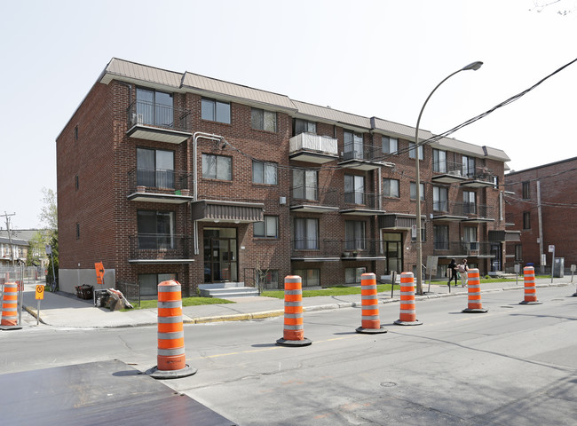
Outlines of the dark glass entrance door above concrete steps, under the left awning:
[{"label": "dark glass entrance door above concrete steps, under the left awning", "polygon": [[235,228],[204,228],[204,282],[238,280]]}]

